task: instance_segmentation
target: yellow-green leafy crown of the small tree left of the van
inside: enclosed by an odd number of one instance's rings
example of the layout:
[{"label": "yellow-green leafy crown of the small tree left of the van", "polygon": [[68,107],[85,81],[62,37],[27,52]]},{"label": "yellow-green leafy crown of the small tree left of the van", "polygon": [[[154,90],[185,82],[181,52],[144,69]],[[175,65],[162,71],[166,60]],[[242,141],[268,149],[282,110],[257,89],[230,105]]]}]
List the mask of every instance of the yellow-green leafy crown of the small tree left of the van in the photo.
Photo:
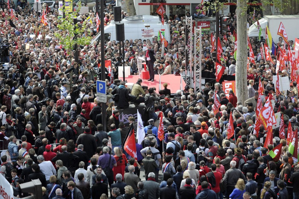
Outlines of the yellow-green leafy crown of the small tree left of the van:
[{"label": "yellow-green leafy crown of the small tree left of the van", "polygon": [[[60,31],[55,33],[55,37],[59,39],[59,43],[67,50],[72,50],[75,44],[88,45],[92,40],[90,31],[84,34],[84,31],[88,30],[87,20],[83,21],[82,24],[80,22],[74,24],[74,18],[79,16],[78,11],[80,7],[74,12],[66,12],[64,19],[58,19],[57,29]],[[63,11],[65,11],[65,9],[63,9]]]}]

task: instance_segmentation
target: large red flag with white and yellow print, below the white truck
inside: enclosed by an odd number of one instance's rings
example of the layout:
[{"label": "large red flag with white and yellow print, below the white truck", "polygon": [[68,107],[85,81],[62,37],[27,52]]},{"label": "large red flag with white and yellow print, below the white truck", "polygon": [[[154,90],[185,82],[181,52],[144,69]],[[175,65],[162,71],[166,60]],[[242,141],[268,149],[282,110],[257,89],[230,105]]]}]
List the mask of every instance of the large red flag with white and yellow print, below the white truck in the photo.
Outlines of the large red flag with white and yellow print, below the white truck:
[{"label": "large red flag with white and yellow print, below the white truck", "polygon": [[272,125],[276,124],[276,117],[272,108],[270,97],[268,97],[265,105],[260,110],[259,117],[261,118],[262,124],[264,125],[265,129],[271,128],[272,130]]}]

